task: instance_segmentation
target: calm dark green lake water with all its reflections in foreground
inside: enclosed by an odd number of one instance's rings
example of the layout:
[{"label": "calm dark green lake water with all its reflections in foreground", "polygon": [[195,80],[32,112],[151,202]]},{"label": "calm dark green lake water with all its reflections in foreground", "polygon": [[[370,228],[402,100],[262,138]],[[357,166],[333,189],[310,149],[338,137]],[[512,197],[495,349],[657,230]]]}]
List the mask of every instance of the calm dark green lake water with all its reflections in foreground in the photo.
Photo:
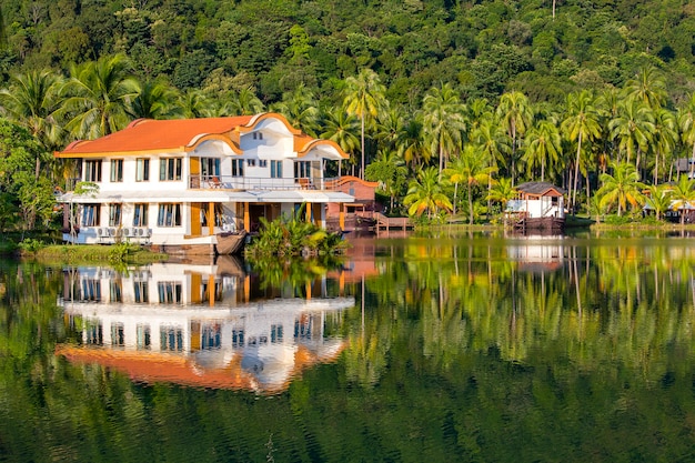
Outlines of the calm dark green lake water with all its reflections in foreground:
[{"label": "calm dark green lake water with all its reflections in foreground", "polygon": [[695,246],[0,268],[0,461],[695,461]]}]

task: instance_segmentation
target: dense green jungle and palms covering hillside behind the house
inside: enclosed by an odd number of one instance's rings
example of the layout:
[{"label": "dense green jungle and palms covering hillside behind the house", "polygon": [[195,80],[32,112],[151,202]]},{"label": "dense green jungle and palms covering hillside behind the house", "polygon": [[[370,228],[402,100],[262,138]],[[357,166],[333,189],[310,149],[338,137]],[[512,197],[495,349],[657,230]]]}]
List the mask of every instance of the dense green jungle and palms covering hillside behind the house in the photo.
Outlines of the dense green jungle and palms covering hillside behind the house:
[{"label": "dense green jungle and palms covering hillside behind the house", "polygon": [[[695,153],[686,1],[6,0],[1,9],[2,115],[40,148],[19,181],[3,173],[2,202],[31,227],[48,223],[48,193],[74,177],[50,155],[70,141],[143,117],[265,110],[336,141],[393,212],[427,221],[474,222],[525,180],[555,182],[594,214],[648,200],[661,218],[695,194],[685,180],[685,197],[657,190],[691,170],[676,161]],[[27,175],[43,182],[44,200],[16,191]]]}]

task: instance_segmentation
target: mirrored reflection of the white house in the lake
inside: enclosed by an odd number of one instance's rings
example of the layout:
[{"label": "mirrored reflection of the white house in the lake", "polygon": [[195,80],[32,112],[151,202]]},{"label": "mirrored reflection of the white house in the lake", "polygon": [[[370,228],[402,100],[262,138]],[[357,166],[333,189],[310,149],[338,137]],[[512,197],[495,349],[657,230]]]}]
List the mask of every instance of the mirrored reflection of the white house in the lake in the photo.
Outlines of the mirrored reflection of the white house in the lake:
[{"label": "mirrored reflection of the white house in the lake", "polygon": [[229,262],[70,269],[59,303],[82,343],[57,353],[143,383],[275,393],[340,354],[344,341],[329,331],[355,305],[343,292],[326,278],[261,289]]}]

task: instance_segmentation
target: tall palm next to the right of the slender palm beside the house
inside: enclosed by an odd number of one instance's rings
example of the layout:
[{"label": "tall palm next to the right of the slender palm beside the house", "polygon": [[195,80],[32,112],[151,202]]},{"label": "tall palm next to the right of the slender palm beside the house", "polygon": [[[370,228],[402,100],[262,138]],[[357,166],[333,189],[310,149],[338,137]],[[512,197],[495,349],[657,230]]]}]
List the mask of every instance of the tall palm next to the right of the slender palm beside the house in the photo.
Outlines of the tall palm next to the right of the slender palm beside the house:
[{"label": "tall palm next to the right of the slender palm beside the house", "polygon": [[427,91],[422,101],[422,108],[430,150],[439,153],[439,172],[442,173],[450,153],[462,144],[466,129],[463,117],[464,107],[454,89],[449,83],[444,83],[441,88],[433,87]]}]

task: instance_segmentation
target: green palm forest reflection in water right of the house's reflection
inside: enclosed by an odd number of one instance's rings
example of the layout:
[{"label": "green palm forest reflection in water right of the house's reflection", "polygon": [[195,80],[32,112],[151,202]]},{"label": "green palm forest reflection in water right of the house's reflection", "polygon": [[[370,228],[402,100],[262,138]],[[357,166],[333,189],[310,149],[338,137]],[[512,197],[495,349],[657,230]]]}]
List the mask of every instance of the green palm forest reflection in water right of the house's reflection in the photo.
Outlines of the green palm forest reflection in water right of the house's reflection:
[{"label": "green palm forest reflection in water right of the house's reflection", "polygon": [[369,314],[359,330],[352,325],[346,352],[366,384],[379,381],[403,321],[409,329],[417,322],[411,349],[422,342],[426,360],[443,366],[492,349],[521,364],[621,363],[656,381],[667,352],[693,353],[695,249],[687,240],[423,238],[386,240],[374,256]]}]

